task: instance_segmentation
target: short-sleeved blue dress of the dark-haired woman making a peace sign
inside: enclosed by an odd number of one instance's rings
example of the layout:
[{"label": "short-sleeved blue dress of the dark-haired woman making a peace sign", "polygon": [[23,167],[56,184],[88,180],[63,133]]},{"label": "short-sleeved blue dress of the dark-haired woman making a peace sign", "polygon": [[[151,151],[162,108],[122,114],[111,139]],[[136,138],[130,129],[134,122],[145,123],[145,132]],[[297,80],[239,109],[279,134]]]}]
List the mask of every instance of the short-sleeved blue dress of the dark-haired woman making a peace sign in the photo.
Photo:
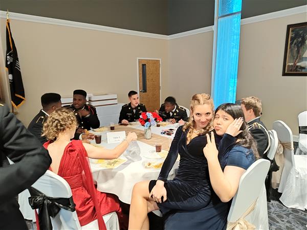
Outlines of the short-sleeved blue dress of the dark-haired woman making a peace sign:
[{"label": "short-sleeved blue dress of the dark-haired woman making a peace sign", "polygon": [[[226,166],[247,169],[255,161],[252,150],[242,146],[234,146],[235,140],[234,137],[225,134],[220,142],[218,157],[222,169]],[[233,144],[230,144],[231,142]],[[176,210],[169,213],[165,219],[164,229],[226,229],[231,201],[222,202],[214,193],[211,184],[209,186],[211,188],[211,198],[206,206],[199,210]]]}]

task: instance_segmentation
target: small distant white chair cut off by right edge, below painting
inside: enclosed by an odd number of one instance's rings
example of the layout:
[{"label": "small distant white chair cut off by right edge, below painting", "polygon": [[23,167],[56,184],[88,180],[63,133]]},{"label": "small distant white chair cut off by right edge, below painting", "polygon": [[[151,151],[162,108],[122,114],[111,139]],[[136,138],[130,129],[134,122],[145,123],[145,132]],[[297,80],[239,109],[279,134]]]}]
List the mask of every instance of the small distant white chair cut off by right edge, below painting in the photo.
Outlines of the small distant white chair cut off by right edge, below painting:
[{"label": "small distant white chair cut off by right edge, below painting", "polygon": [[295,154],[307,154],[307,111],[298,114],[298,148]]}]

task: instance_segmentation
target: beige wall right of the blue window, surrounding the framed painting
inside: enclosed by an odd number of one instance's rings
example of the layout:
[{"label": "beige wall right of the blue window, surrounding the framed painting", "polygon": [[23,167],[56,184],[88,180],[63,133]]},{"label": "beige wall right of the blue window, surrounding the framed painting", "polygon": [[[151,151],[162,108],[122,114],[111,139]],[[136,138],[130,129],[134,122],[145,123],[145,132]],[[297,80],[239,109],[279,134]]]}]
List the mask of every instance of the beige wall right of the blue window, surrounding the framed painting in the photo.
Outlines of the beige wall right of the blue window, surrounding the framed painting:
[{"label": "beige wall right of the blue window, surrounding the framed painting", "polygon": [[298,113],[307,110],[307,77],[282,76],[283,53],[287,25],[306,18],[302,13],[241,27],[237,99],[259,97],[266,126],[282,120],[294,135]]}]

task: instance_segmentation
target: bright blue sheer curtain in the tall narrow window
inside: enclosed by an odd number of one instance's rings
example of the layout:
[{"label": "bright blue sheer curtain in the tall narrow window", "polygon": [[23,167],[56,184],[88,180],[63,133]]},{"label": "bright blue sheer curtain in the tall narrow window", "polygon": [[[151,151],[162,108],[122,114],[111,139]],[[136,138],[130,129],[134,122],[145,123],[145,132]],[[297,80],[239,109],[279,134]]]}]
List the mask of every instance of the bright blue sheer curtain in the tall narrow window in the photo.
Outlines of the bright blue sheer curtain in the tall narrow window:
[{"label": "bright blue sheer curtain in the tall narrow window", "polygon": [[[233,5],[231,5],[233,4]],[[213,100],[215,107],[235,103],[239,58],[242,1],[220,1],[218,18]]]}]

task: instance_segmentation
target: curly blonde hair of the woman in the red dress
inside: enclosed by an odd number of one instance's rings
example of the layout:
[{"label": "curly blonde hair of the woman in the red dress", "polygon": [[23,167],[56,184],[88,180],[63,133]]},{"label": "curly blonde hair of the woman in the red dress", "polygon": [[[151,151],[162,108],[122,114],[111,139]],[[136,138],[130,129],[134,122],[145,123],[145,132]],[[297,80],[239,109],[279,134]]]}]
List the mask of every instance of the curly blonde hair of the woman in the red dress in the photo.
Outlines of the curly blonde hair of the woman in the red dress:
[{"label": "curly blonde hair of the woman in the red dress", "polygon": [[41,136],[46,136],[47,140],[54,141],[59,133],[76,126],[77,119],[73,111],[58,108],[50,114],[47,121],[43,124]]}]

